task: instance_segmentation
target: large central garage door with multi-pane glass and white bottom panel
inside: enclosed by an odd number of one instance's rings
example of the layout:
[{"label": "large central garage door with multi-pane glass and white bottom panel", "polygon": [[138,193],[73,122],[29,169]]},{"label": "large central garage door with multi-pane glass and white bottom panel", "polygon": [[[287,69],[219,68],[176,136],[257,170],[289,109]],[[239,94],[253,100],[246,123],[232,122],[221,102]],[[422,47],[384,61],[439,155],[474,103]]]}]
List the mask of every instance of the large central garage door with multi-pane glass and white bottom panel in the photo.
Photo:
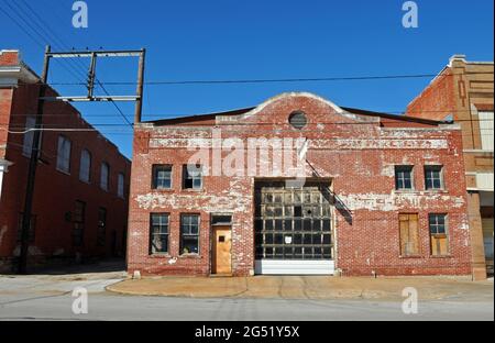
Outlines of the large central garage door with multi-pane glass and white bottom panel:
[{"label": "large central garage door with multi-pane glass and white bottom panel", "polygon": [[255,184],[257,275],[332,275],[331,182]]}]

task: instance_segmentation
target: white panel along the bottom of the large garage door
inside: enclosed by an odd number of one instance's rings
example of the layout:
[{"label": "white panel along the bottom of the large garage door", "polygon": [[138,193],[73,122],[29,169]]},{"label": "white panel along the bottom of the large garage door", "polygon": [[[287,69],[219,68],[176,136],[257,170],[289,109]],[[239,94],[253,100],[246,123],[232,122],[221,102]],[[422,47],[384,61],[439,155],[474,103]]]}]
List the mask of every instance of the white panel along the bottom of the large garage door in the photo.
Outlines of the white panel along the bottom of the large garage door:
[{"label": "white panel along the bottom of the large garage door", "polygon": [[256,261],[257,275],[333,275],[333,261]]}]

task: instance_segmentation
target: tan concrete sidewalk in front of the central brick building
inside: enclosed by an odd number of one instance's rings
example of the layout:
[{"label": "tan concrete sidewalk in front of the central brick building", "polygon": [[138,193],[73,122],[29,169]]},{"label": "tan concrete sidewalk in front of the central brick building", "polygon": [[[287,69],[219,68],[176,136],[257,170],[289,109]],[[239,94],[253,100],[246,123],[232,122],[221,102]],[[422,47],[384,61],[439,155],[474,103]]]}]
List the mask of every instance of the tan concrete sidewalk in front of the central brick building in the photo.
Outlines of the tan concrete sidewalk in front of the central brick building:
[{"label": "tan concrete sidewalk in front of the central brick building", "polygon": [[261,299],[404,299],[403,290],[414,287],[420,299],[471,299],[493,301],[493,281],[474,283],[468,278],[443,277],[156,277],[124,280],[107,290],[140,296],[189,298]]}]

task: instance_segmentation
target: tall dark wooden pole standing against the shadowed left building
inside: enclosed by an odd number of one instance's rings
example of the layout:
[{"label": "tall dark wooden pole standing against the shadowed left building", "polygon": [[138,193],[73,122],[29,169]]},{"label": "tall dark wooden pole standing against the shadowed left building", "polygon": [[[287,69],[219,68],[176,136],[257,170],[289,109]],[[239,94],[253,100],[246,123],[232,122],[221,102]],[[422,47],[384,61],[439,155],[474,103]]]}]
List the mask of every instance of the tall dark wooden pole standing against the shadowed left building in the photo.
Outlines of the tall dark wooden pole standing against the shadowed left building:
[{"label": "tall dark wooden pole standing against the shadowed left building", "polygon": [[19,256],[19,274],[28,273],[28,254],[30,247],[30,228],[31,228],[31,219],[33,211],[33,198],[34,198],[34,181],[36,178],[36,167],[37,161],[40,157],[40,139],[41,139],[41,129],[43,126],[43,108],[45,106],[45,93],[46,93],[46,81],[48,80],[48,67],[50,67],[50,57],[48,54],[51,52],[51,47],[46,46],[45,49],[45,58],[43,64],[43,73],[40,80],[40,97],[37,101],[37,113],[36,113],[36,123],[34,125],[33,132],[33,143],[31,146],[31,157],[30,157],[30,166],[28,170],[28,182],[25,185],[25,198],[24,198],[24,212],[22,214],[22,231],[21,231],[21,253]]}]

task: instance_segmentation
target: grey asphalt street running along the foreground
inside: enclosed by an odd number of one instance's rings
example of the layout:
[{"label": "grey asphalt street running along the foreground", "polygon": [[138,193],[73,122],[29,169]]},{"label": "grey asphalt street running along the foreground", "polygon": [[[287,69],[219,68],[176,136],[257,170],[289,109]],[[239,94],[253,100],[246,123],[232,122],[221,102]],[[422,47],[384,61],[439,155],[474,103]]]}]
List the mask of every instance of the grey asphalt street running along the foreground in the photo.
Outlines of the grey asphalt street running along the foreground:
[{"label": "grey asphalt street running along the foreground", "polygon": [[[105,290],[119,281],[59,277],[0,277],[0,320],[55,321],[342,321],[494,320],[493,294],[441,301],[419,300],[417,314],[404,314],[399,301],[190,299],[121,296]],[[73,290],[88,289],[88,313],[74,314]]]}]

